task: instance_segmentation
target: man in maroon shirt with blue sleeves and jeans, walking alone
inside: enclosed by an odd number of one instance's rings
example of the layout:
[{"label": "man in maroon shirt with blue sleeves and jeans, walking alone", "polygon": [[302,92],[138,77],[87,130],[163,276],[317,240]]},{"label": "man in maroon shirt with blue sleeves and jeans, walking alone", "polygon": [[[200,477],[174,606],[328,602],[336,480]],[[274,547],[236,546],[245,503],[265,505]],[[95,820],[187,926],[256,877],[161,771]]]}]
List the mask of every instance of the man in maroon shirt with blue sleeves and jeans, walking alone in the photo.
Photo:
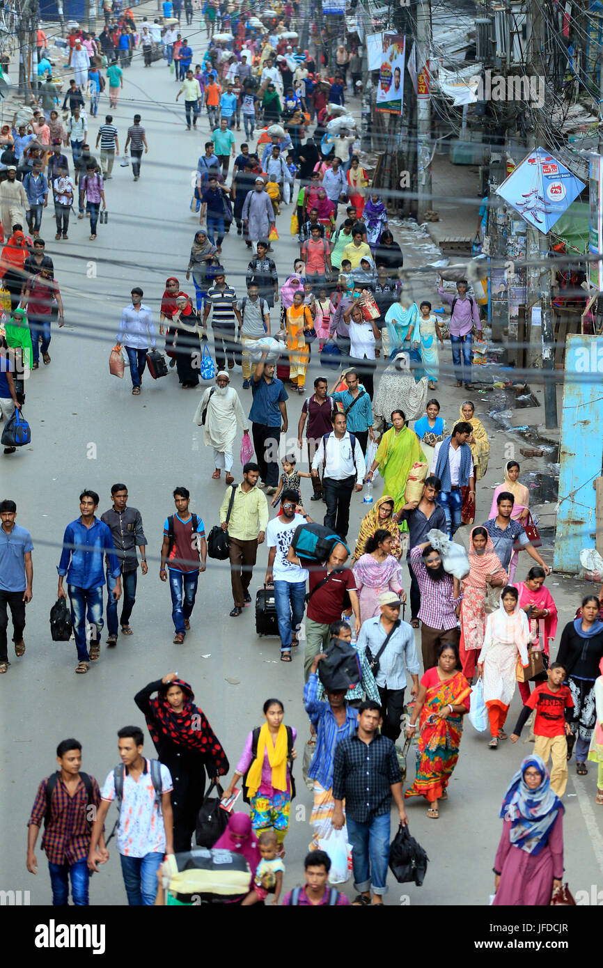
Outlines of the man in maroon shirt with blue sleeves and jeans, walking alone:
[{"label": "man in maroon shirt with blue sleeves and jeans, walking alone", "polygon": [[191,628],[198,576],[199,572],[205,571],[207,541],[202,519],[189,511],[191,492],[185,487],[177,487],[173,498],[176,513],[169,515],[164,525],[159,577],[166,582],[169,572],[171,618],[175,629],[173,642],[181,646]]}]

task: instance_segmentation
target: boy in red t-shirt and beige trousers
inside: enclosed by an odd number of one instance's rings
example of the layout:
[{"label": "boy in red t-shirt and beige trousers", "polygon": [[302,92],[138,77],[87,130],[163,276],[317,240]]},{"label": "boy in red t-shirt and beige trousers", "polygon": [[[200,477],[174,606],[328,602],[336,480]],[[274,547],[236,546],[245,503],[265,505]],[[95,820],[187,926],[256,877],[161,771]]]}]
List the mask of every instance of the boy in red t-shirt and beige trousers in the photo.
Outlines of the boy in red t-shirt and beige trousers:
[{"label": "boy in red t-shirt and beige trousers", "polygon": [[571,734],[569,723],[565,720],[565,711],[574,708],[569,687],[563,684],[565,666],[554,662],[547,670],[547,682],[541,682],[531,693],[524,709],[520,712],[515,729],[511,734],[511,742],[517,742],[526,725],[529,713],[536,711],[534,717],[534,753],[545,765],[549,756],[553,761],[551,769],[551,787],[558,797],[565,793],[567,783],[567,740]]}]

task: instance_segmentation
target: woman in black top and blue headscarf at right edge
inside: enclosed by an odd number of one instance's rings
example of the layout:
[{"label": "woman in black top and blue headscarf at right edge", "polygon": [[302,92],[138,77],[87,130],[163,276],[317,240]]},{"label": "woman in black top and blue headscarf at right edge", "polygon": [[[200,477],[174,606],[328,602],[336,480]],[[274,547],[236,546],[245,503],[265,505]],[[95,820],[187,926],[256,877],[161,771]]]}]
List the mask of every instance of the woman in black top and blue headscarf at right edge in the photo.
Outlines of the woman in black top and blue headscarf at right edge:
[{"label": "woman in black top and blue headscarf at right edge", "polygon": [[566,683],[574,701],[570,721],[573,736],[567,737],[567,759],[576,743],[576,771],[588,773],[586,759],[592,730],[596,722],[594,683],[603,657],[603,621],[599,620],[600,602],[587,595],[582,602],[582,617],[569,621],[561,632],[557,661],[565,666]]}]

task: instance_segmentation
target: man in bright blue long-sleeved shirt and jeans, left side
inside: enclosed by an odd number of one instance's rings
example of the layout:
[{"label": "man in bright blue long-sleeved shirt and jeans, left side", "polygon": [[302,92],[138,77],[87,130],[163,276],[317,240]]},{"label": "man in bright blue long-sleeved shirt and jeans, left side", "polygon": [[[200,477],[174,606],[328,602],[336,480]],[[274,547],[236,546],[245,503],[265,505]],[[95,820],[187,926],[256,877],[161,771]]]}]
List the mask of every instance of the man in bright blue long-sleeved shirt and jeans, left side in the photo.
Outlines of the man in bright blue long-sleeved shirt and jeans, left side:
[{"label": "man in bright blue long-sleeved shirt and jeans, left side", "polygon": [[[57,571],[59,574],[59,598],[69,598],[72,606],[77,666],[75,672],[87,673],[90,662],[96,662],[101,653],[103,632],[103,586],[108,561],[109,573],[115,579],[113,599],[121,598],[121,568],[111,531],[103,521],[95,517],[99,506],[96,491],[82,491],[79,495],[80,517],[72,521],[63,535],[63,553]],[[67,592],[63,579],[67,575]],[[86,615],[94,627],[90,640],[90,653],[86,648]]]}]

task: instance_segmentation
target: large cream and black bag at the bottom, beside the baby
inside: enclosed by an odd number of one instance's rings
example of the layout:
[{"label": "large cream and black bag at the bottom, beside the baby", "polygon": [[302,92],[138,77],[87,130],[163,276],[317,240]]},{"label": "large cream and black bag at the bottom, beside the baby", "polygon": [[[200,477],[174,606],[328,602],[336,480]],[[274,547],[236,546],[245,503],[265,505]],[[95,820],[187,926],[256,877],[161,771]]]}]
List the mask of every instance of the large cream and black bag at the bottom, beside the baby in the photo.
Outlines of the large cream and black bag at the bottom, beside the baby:
[{"label": "large cream and black bag at the bottom, beside the baby", "polygon": [[[223,813],[226,812],[223,810]],[[164,888],[182,904],[220,903],[245,897],[251,884],[246,858],[205,847],[169,854],[160,868]]]}]

